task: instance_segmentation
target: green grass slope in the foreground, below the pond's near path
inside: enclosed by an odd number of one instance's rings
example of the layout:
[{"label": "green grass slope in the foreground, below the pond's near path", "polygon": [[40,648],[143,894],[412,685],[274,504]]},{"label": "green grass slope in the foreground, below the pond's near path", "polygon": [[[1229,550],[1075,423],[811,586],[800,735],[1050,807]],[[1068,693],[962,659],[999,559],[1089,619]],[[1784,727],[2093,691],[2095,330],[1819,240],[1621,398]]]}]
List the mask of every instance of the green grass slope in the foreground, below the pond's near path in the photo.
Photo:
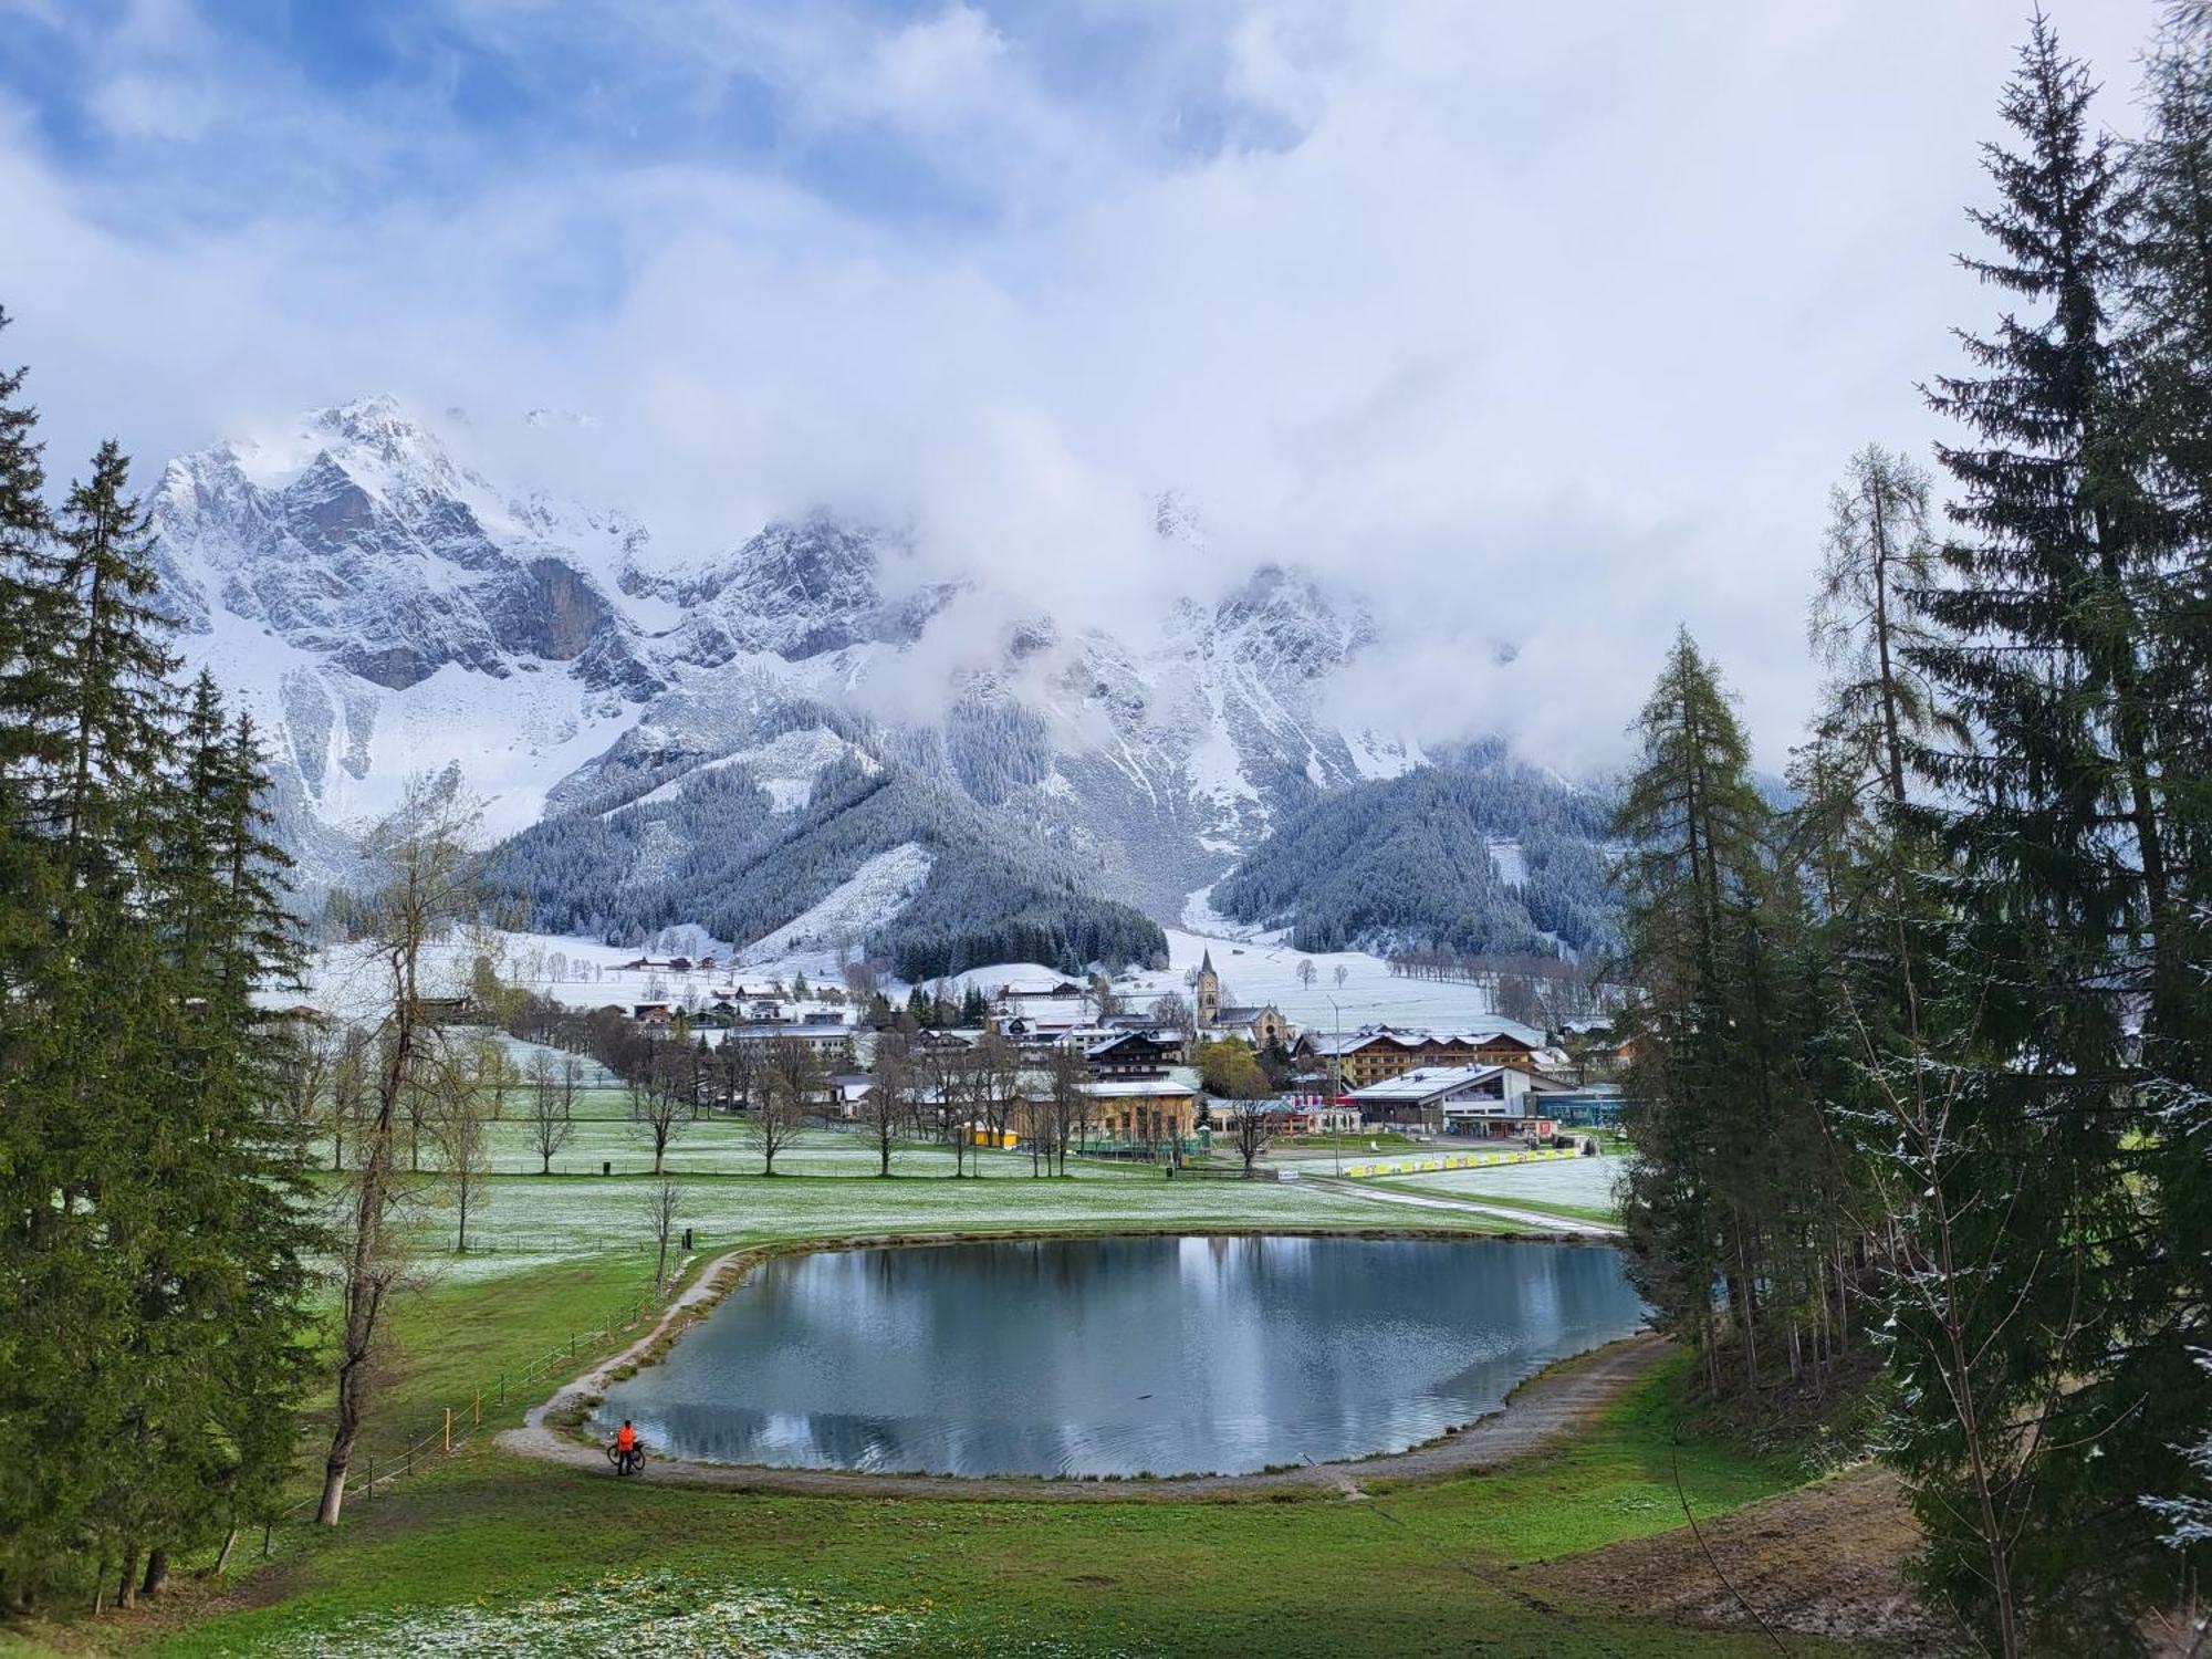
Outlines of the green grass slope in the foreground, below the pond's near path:
[{"label": "green grass slope in the foreground, below the pond's near path", "polygon": [[1677,1444],[1681,1387],[1668,1363],[1555,1453],[1367,1500],[754,1498],[480,1442],[334,1537],[299,1528],[241,1586],[265,1606],[144,1635],[168,1655],[1759,1652],[1515,1586],[1520,1562],[1679,1526],[1677,1475],[1699,1515],[1794,1484]]}]

